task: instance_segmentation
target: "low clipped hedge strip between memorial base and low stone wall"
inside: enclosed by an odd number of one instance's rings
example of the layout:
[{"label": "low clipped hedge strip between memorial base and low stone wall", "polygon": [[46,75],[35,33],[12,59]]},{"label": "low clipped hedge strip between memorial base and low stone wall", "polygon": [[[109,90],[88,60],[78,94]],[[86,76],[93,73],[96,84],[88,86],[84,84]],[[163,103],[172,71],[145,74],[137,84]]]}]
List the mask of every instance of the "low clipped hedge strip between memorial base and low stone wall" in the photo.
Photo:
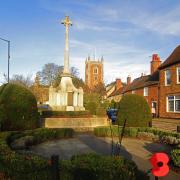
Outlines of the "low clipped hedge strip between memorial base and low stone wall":
[{"label": "low clipped hedge strip between memorial base and low stone wall", "polygon": [[89,111],[42,111],[42,117],[91,117]]}]

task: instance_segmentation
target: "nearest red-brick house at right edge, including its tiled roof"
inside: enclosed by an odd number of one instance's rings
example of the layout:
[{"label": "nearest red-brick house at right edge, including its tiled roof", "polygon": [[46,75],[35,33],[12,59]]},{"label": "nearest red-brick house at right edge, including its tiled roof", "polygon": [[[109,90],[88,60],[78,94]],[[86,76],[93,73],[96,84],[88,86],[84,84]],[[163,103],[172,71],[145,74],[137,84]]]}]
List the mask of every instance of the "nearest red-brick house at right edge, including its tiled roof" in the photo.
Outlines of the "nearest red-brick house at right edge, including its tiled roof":
[{"label": "nearest red-brick house at right edge, including its tiled roof", "polygon": [[160,65],[159,115],[180,118],[180,46]]}]

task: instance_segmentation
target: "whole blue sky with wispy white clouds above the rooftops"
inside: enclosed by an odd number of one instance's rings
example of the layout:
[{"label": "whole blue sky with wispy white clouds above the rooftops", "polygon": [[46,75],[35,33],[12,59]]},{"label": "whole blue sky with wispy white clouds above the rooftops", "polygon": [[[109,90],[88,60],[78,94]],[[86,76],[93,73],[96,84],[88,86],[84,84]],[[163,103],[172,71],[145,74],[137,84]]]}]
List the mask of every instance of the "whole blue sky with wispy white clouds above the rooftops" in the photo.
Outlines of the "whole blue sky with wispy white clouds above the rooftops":
[{"label": "whole blue sky with wispy white clouds above the rooftops", "polygon": [[[69,15],[70,64],[84,79],[88,54],[104,56],[104,79],[149,74],[153,53],[165,60],[180,44],[178,0],[0,0],[0,37],[11,40],[10,73],[34,76],[48,62],[63,65]],[[0,83],[7,44],[0,41]]]}]

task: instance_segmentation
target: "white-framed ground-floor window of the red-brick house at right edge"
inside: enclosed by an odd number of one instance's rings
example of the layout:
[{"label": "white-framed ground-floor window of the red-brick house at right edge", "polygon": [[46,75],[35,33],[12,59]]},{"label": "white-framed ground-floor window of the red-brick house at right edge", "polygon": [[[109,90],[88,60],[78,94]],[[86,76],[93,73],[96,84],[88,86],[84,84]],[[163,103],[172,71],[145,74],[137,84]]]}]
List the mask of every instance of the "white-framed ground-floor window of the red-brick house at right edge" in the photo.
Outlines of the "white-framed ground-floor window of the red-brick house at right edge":
[{"label": "white-framed ground-floor window of the red-brick house at right edge", "polygon": [[180,95],[167,97],[167,111],[180,112]]}]

